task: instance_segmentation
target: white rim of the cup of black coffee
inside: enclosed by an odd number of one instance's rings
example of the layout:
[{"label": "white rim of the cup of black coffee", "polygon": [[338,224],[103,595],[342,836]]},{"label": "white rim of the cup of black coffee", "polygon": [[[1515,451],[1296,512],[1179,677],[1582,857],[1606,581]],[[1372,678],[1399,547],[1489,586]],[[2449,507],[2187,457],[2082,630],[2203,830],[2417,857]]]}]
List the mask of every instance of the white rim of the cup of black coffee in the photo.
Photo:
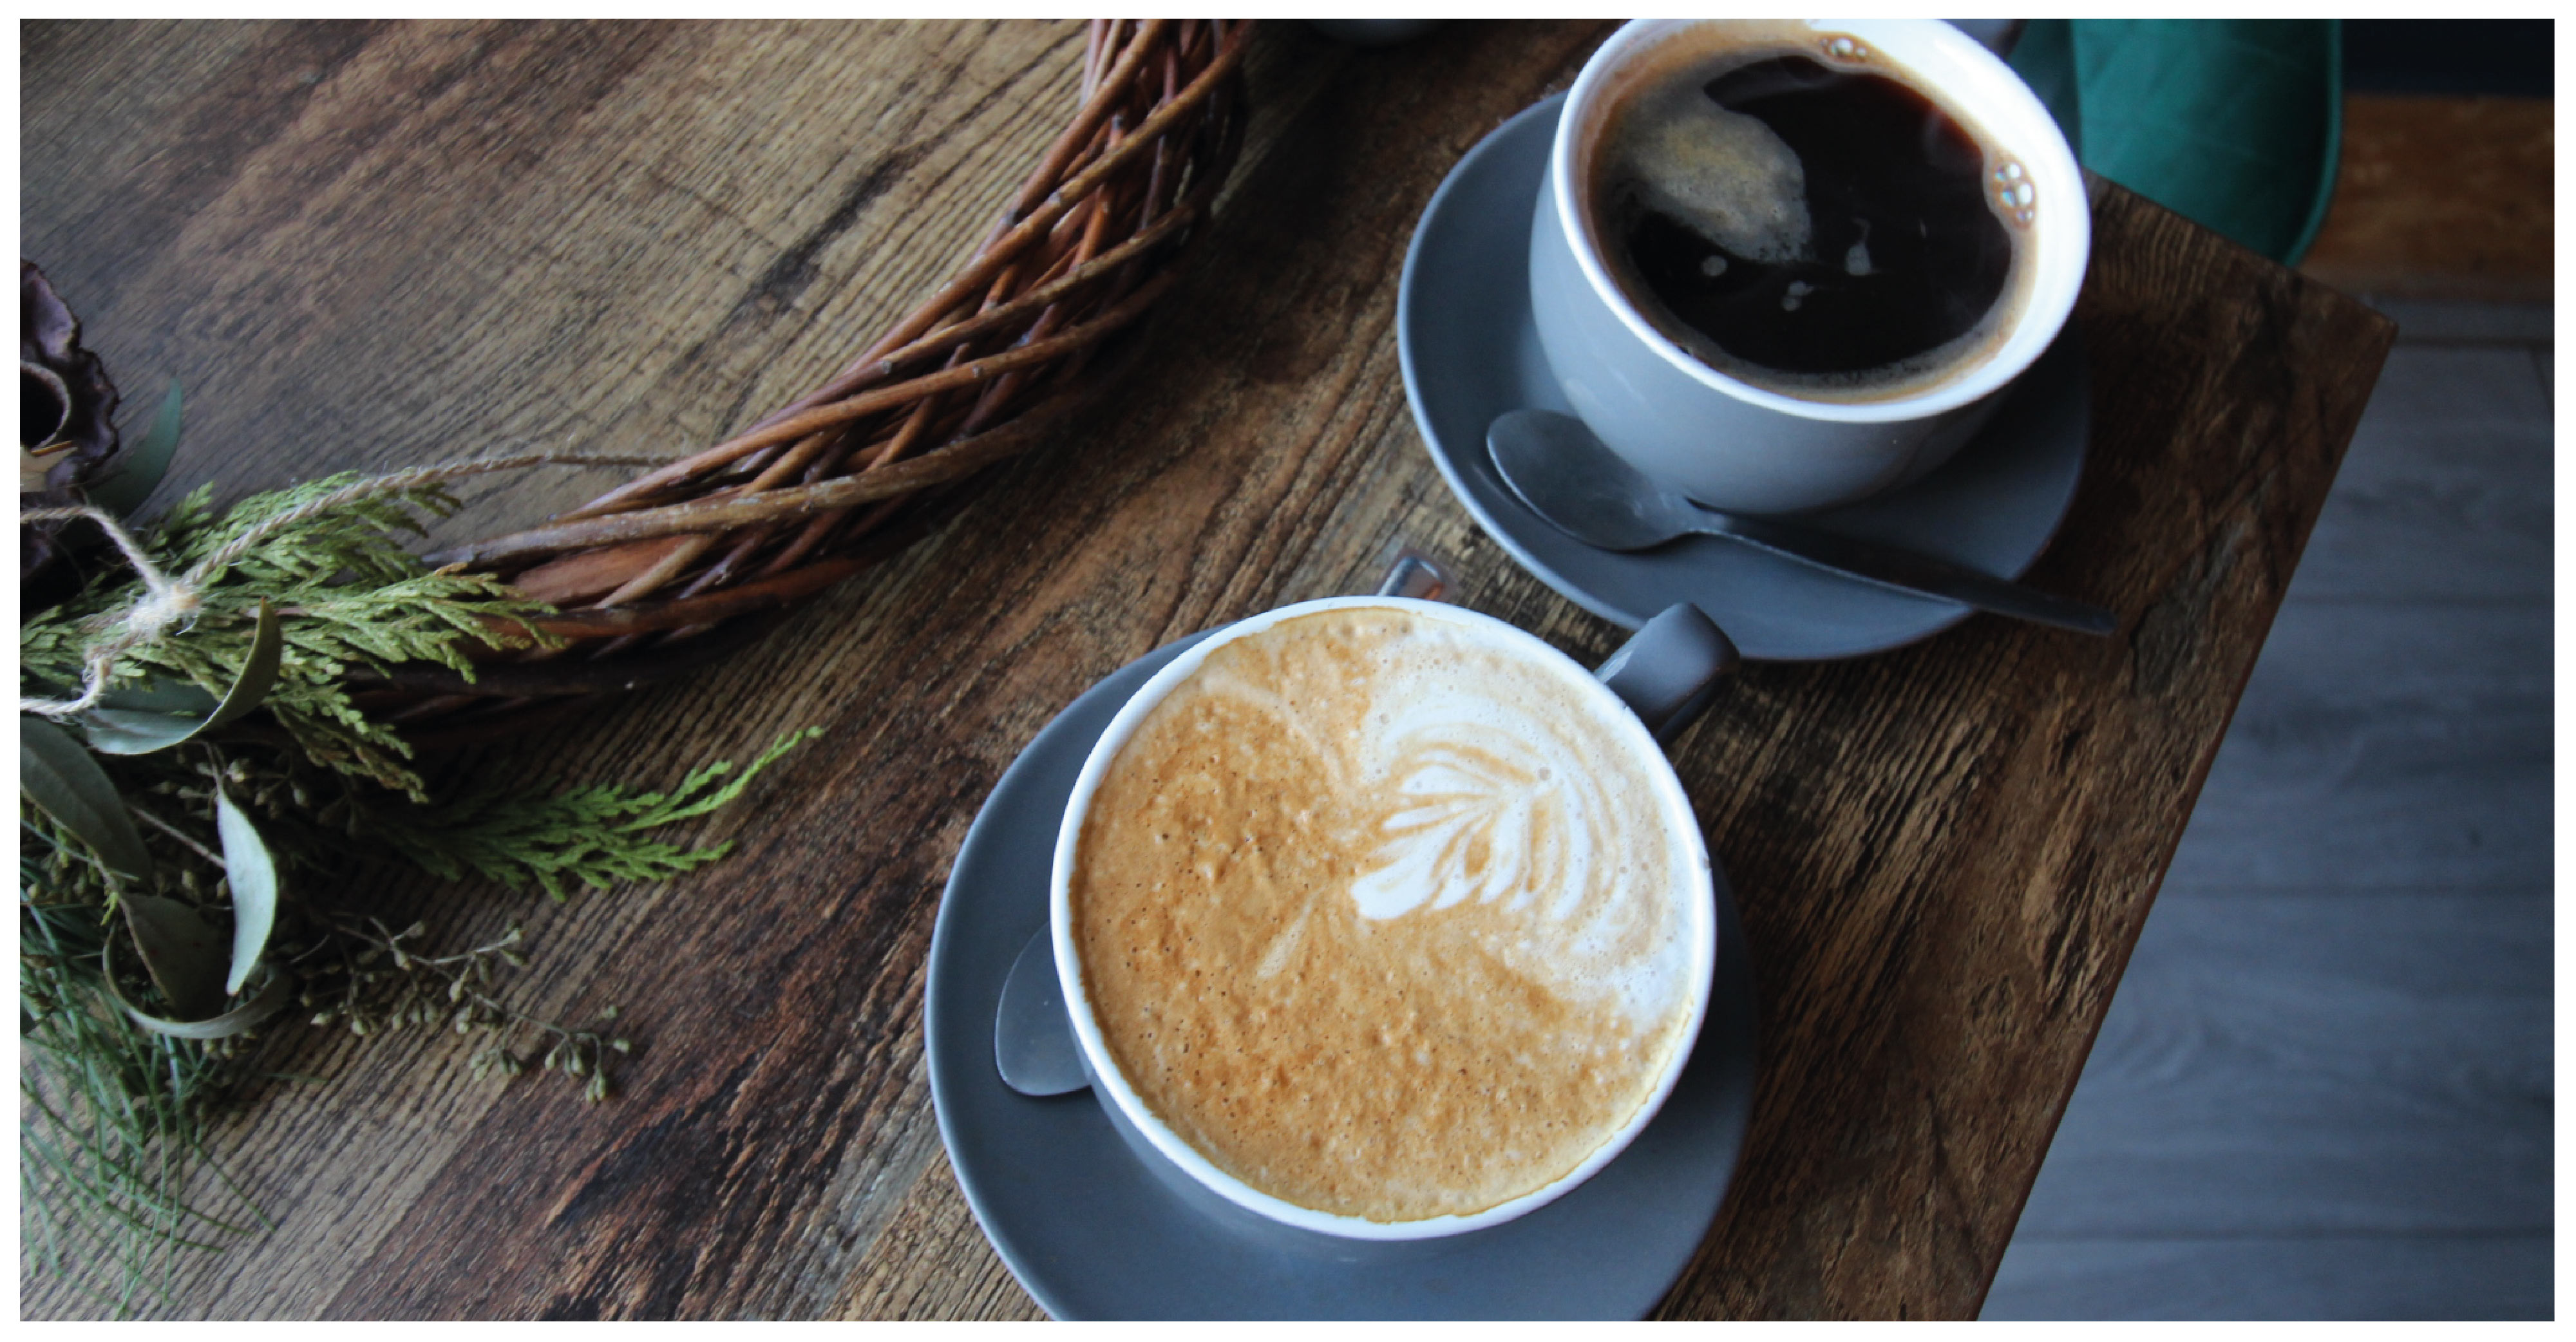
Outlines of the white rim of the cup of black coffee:
[{"label": "white rim of the cup of black coffee", "polygon": [[[1801,399],[1767,386],[1754,386],[1700,363],[1628,301],[1628,294],[1610,278],[1610,270],[1600,258],[1600,240],[1592,234],[1592,222],[1577,201],[1579,183],[1574,173],[1574,131],[1584,124],[1584,116],[1600,100],[1610,77],[1623,70],[1633,54],[1646,52],[1664,36],[1698,23],[1726,21],[1631,18],[1610,33],[1610,39],[1602,41],[1600,49],[1595,49],[1584,62],[1584,70],[1574,77],[1574,88],[1566,90],[1566,103],[1556,118],[1556,137],[1548,144],[1548,191],[1558,227],[1566,234],[1574,263],[1584,273],[1584,283],[1610,307],[1620,325],[1682,376],[1747,404],[1801,420],[1860,425],[1927,420],[1932,415],[1973,404],[2022,376],[2022,371],[2027,371],[2048,350],[2058,330],[2066,327],[2066,317],[2076,307],[2076,294],[2084,288],[2084,268],[2092,252],[2092,201],[2084,191],[2084,173],[2076,165],[2074,152],[2066,147],[2063,131],[2058,131],[2056,118],[2038,100],[2038,95],[2030,93],[2030,85],[2025,85],[2022,77],[2014,75],[2012,67],[1994,52],[1940,18],[1808,18],[1770,23],[1806,23],[1819,33],[1850,33],[1873,49],[1886,52],[1924,80],[1932,80],[1932,75],[1950,75],[1960,82],[1971,82],[1973,90],[1960,90],[1950,82],[1942,82],[1940,88],[1955,100],[1971,100],[1968,95],[1973,93],[1978,126],[2009,144],[2012,152],[2030,165],[2030,180],[2038,191],[2032,209],[2038,209],[2043,219],[2050,219],[2050,224],[2043,224],[2032,234],[2035,273],[2030,307],[2022,312],[2012,335],[1989,350],[1976,368],[1911,397],[1893,397],[1883,402]],[[1940,70],[1924,70],[1924,64],[1935,62]],[[1991,98],[1991,103],[1986,98]]]}]

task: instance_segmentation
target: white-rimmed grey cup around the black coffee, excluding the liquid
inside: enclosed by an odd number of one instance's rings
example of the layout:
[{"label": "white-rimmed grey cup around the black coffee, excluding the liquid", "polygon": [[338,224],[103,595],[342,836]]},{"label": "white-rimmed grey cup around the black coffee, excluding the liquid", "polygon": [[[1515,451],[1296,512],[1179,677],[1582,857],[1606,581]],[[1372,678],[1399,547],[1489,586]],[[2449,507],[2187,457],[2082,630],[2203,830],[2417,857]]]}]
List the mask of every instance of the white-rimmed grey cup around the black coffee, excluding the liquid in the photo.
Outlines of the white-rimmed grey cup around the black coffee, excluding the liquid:
[{"label": "white-rimmed grey cup around the black coffee, excluding the liquid", "polygon": [[[2009,332],[1917,394],[1824,402],[1726,376],[1641,317],[1602,263],[1582,188],[1605,113],[1662,44],[1705,41],[1695,28],[1736,28],[1749,44],[1777,44],[1783,33],[1816,49],[1857,44],[1837,52],[1901,67],[1906,82],[1973,124],[1999,155],[1989,160],[1989,191],[2009,191],[2014,209],[2030,211],[2030,286]],[[1641,18],[1610,33],[1566,95],[1530,227],[1530,307],[1574,415],[1610,451],[1705,505],[1795,513],[1906,484],[1947,461],[2056,340],[2089,250],[2092,209],[2066,137],[2007,64],[1958,28],[1929,18]]]}]

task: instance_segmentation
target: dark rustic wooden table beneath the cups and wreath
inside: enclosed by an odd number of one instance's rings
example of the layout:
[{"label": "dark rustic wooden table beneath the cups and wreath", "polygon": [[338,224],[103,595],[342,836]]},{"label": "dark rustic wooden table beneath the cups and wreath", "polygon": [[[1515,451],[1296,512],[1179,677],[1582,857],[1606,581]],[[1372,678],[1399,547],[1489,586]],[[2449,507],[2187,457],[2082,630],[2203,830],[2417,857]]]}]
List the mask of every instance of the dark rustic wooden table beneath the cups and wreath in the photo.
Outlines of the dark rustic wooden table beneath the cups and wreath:
[{"label": "dark rustic wooden table beneath the cups and wreath", "polygon": [[[732,662],[477,768],[677,778],[788,726],[706,837],[551,907],[340,891],[453,938],[526,920],[531,1010],[616,1002],[616,1102],[466,1077],[456,1035],[286,1030],[219,1131],[276,1229],[183,1316],[1025,1316],[940,1154],[922,961],[958,837],[1084,685],[1365,585],[1391,543],[1600,657],[1618,631],[1440,484],[1396,273],[1440,178],[1602,23],[1378,52],[1257,36],[1198,270],[1105,410]],[[188,389],[162,500],[500,446],[680,453],[848,358],[981,237],[1069,116],[1074,23],[23,28],[23,250],[129,397]],[[1677,762],[1744,909],[1762,1082],[1674,1316],[1973,1316],[2391,340],[2115,185],[2076,322],[2094,443],[2030,580],[2115,639],[1978,616],[1754,665]],[[1497,276],[1517,283],[1517,276]],[[448,533],[616,482],[484,484]],[[28,1316],[95,1306],[46,1275]]]}]

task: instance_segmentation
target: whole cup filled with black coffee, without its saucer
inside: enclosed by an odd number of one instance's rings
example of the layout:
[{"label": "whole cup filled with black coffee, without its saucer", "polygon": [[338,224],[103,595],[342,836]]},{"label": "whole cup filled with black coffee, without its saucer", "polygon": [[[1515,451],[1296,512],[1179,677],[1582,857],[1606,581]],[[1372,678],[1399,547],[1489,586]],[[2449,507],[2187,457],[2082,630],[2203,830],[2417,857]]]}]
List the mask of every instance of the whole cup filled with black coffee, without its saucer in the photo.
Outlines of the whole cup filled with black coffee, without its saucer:
[{"label": "whole cup filled with black coffee, without its saucer", "polygon": [[1574,412],[1713,507],[1919,479],[2066,325],[2084,180],[1937,21],[1636,21],[1566,95],[1530,227]]}]

